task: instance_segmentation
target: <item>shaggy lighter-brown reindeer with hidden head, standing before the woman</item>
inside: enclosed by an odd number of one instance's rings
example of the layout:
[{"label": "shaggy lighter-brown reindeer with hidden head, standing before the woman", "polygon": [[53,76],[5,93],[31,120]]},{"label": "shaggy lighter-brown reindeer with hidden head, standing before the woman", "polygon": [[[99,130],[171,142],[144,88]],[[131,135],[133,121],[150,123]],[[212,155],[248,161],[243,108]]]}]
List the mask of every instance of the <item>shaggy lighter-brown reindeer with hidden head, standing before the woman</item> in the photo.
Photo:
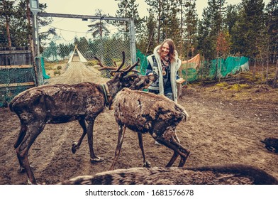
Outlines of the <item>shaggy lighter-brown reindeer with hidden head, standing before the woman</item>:
[{"label": "shaggy lighter-brown reindeer with hidden head, standing before the woman", "polygon": [[142,134],[149,133],[153,139],[174,151],[167,167],[172,166],[177,156],[180,156],[179,167],[184,166],[189,150],[179,143],[176,127],[186,120],[185,109],[164,95],[125,88],[118,92],[115,98],[115,119],[118,123],[118,144],[110,170],[115,168],[116,160],[121,151],[123,136],[128,129],[137,132],[139,146],[143,154],[143,166],[150,167],[146,161]]}]

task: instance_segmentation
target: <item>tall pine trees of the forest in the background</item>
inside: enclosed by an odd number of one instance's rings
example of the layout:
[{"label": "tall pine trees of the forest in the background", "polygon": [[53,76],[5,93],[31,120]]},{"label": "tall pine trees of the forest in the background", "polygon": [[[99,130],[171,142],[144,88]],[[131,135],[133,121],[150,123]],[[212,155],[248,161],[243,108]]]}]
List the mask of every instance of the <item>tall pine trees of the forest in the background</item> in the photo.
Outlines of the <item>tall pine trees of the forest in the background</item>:
[{"label": "tall pine trees of the forest in the background", "polygon": [[[136,48],[146,55],[165,38],[172,38],[179,55],[188,60],[196,54],[206,60],[228,55],[246,56],[250,60],[277,61],[278,2],[243,0],[227,4],[226,0],[208,0],[198,18],[196,0],[145,0],[149,16],[140,18],[136,0],[118,1],[117,17],[133,18]],[[0,47],[27,46],[32,39],[29,0],[0,1]],[[40,4],[45,11],[47,4]],[[101,10],[92,14],[106,16]],[[50,24],[51,18],[40,18],[39,26]],[[94,38],[109,36],[108,21],[92,20],[88,31]],[[114,23],[118,31],[128,32],[128,23]],[[55,35],[56,29],[40,33],[40,48]]]}]

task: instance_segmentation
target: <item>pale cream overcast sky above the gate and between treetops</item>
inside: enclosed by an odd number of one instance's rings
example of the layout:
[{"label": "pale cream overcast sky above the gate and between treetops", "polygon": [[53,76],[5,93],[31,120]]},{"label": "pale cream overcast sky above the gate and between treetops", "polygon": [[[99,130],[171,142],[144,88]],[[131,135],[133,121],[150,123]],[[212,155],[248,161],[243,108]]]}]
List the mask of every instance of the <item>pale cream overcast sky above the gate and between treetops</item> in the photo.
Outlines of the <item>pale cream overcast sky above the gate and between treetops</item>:
[{"label": "pale cream overcast sky above the gate and between treetops", "polygon": [[[95,15],[96,9],[101,9],[104,14],[115,16],[118,9],[118,1],[115,0],[39,0],[41,4],[47,4],[48,13],[57,14],[82,14]],[[241,0],[226,0],[227,4],[238,4]],[[265,0],[268,4],[269,0]],[[140,17],[148,16],[147,4],[145,0],[137,0],[138,12]],[[201,18],[204,8],[207,6],[207,0],[197,0],[196,10]],[[62,34],[66,41],[71,40],[74,36],[86,36],[89,22],[81,19],[55,18],[51,26],[58,28],[57,33]],[[87,35],[89,36],[89,35]]]}]

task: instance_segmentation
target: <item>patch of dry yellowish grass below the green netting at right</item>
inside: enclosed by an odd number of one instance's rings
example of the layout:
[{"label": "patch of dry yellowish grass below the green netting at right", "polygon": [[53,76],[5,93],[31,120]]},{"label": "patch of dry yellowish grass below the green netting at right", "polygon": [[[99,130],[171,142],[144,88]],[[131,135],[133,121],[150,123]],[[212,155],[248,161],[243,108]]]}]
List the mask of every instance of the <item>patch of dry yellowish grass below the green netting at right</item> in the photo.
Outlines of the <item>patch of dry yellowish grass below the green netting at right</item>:
[{"label": "patch of dry yellowish grass below the green netting at right", "polygon": [[[257,68],[255,75],[253,71],[242,72],[238,75],[233,75],[221,82],[198,82],[188,85],[187,90],[201,89],[202,95],[209,95],[209,97],[218,100],[232,100],[232,101],[252,101],[262,103],[278,104],[278,88],[273,87],[274,66],[269,70],[268,82],[265,77],[262,77],[262,69]],[[270,82],[270,83],[269,83]],[[276,82],[278,85],[278,82]]]}]

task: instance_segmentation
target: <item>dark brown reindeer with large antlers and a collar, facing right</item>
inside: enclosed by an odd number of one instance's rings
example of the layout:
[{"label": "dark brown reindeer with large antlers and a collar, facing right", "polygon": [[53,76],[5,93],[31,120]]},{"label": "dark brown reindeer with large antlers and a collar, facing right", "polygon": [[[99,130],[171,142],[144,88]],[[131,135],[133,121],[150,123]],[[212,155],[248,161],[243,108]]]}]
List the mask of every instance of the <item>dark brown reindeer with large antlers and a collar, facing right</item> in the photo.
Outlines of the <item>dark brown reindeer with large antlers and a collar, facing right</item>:
[{"label": "dark brown reindeer with large antlers and a collar, facing right", "polygon": [[91,162],[103,161],[103,158],[96,156],[93,149],[93,128],[96,117],[104,111],[105,107],[111,107],[112,100],[117,92],[123,87],[130,87],[139,90],[148,87],[154,76],[141,76],[130,74],[136,71],[136,65],[129,65],[121,69],[125,63],[123,52],[123,62],[117,67],[108,67],[101,63],[101,70],[109,69],[113,73],[113,78],[104,85],[93,82],[82,82],[76,85],[43,85],[33,87],[21,92],[9,104],[11,111],[16,112],[21,121],[21,130],[18,139],[14,144],[18,157],[20,171],[26,171],[28,183],[36,184],[33,172],[28,161],[28,151],[30,146],[43,131],[45,124],[60,124],[77,120],[83,129],[83,134],[77,143],[72,145],[74,154],[82,143],[82,139],[87,134]]}]

